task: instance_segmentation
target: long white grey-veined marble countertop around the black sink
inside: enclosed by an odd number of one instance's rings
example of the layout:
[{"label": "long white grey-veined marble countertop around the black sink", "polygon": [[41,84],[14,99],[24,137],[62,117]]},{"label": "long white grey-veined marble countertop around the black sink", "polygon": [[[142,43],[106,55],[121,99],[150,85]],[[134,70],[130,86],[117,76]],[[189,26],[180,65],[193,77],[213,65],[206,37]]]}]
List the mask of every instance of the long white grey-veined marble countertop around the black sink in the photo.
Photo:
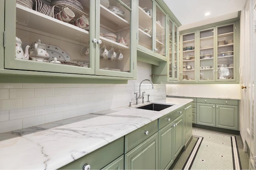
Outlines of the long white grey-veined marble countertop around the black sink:
[{"label": "long white grey-veined marble countertop around the black sink", "polygon": [[136,109],[100,111],[0,134],[0,169],[58,169],[174,111],[191,99],[164,98],[174,104],[162,111]]}]

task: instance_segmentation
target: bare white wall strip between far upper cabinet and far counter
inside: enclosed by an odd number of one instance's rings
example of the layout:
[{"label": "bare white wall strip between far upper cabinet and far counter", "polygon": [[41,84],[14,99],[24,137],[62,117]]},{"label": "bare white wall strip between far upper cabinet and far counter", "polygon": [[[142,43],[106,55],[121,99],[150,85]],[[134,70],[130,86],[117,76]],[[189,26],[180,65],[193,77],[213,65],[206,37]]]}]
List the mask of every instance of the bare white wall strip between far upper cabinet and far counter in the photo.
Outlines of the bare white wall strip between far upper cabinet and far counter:
[{"label": "bare white wall strip between far upper cabinet and far counter", "polygon": [[167,84],[166,95],[199,98],[241,98],[239,84]]}]

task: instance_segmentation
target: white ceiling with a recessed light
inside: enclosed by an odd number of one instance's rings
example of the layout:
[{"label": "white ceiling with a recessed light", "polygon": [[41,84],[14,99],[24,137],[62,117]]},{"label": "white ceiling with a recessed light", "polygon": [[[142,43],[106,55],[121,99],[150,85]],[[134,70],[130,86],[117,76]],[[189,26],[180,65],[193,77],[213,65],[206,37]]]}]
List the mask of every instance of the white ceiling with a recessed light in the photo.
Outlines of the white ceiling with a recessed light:
[{"label": "white ceiling with a recessed light", "polygon": [[[247,0],[164,0],[180,21],[180,31],[238,17]],[[210,15],[205,16],[206,12]]]}]

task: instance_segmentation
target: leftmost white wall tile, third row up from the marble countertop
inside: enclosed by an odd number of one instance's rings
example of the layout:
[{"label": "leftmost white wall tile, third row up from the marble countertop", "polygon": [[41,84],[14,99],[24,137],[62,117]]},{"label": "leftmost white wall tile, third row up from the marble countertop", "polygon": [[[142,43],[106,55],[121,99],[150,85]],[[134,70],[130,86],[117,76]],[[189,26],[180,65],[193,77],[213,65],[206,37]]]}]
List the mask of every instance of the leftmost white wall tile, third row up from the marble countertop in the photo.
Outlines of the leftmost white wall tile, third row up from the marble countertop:
[{"label": "leftmost white wall tile, third row up from the marble countertop", "polygon": [[22,108],[22,99],[0,100],[0,110],[10,110]]}]

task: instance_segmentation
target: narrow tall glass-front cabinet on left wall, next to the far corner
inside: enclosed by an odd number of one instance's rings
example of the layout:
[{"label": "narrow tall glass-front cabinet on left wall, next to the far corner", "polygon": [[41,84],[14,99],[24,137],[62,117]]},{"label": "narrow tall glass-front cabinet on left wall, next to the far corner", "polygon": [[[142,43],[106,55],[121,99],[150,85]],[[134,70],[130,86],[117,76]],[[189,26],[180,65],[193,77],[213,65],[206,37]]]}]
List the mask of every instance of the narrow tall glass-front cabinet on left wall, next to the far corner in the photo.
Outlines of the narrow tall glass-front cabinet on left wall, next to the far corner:
[{"label": "narrow tall glass-front cabinet on left wall, next to the far corner", "polygon": [[178,58],[178,27],[169,19],[169,80],[179,78],[179,58]]}]

